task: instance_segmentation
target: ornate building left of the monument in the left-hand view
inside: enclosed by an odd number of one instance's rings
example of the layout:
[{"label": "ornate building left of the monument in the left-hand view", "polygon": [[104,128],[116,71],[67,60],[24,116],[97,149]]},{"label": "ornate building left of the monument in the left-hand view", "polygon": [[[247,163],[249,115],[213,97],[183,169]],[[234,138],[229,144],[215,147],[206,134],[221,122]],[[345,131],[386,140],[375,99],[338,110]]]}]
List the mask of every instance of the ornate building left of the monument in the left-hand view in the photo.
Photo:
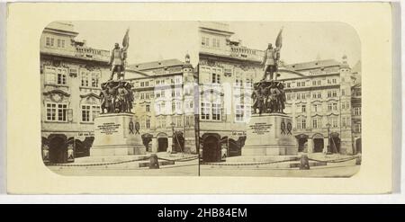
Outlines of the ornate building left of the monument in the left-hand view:
[{"label": "ornate building left of the monument in the left-hand view", "polygon": [[45,163],[89,154],[100,84],[108,78],[110,52],[76,40],[68,22],[52,22],[40,37],[41,153]]}]

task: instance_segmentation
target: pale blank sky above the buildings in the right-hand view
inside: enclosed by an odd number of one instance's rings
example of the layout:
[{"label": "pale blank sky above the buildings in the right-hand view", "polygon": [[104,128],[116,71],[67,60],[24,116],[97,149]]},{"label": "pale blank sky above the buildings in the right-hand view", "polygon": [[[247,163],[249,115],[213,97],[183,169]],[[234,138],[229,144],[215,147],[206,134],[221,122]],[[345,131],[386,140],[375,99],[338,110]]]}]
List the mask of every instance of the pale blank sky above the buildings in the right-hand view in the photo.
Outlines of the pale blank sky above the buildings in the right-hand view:
[{"label": "pale blank sky above the buildings in the right-hand view", "polygon": [[347,55],[353,67],[361,57],[360,40],[356,30],[343,22],[228,22],[235,32],[231,40],[242,40],[251,49],[266,49],[275,45],[283,27],[281,59],[287,64],[320,59],[341,61]]}]

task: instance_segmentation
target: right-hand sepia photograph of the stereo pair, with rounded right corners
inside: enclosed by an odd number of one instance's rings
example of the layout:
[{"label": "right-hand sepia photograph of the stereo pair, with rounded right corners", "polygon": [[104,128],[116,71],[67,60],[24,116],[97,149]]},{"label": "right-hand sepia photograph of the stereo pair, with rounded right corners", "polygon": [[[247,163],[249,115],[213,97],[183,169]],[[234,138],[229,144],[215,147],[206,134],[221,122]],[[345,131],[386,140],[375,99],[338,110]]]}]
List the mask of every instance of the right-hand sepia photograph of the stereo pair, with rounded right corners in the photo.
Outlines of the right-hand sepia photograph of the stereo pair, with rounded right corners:
[{"label": "right-hand sepia photograph of the stereo pair, with rounded right corners", "polygon": [[349,177],[361,58],[342,22],[200,22],[201,174]]}]

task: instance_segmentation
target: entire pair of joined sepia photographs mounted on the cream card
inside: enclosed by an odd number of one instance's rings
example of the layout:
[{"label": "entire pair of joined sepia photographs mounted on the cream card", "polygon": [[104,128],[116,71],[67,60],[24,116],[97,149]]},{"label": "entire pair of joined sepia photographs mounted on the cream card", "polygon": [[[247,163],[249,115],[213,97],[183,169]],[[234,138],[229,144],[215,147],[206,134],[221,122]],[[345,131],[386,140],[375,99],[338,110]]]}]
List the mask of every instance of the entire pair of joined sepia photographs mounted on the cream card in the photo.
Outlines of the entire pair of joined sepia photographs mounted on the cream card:
[{"label": "entire pair of joined sepia photographs mounted on the cream card", "polygon": [[63,175],[350,177],[360,50],[341,22],[51,22],[42,161]]}]

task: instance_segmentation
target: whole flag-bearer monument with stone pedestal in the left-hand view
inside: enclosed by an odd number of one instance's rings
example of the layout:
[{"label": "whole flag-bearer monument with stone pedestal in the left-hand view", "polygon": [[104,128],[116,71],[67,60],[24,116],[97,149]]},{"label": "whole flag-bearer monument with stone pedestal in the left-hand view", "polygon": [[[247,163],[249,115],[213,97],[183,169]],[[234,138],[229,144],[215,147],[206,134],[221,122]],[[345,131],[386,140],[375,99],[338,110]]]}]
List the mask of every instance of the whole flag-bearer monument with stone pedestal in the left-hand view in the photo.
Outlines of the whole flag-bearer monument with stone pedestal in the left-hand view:
[{"label": "whole flag-bearer monument with stone pedestal in the left-hand view", "polygon": [[[101,112],[94,119],[94,143],[91,156],[143,155],[146,147],[139,134],[139,122],[133,119],[132,86],[125,81],[125,65],[129,48],[129,30],[122,40],[122,49],[115,43],[111,55],[110,79],[101,84]],[[117,79],[113,80],[113,76]]]}]

